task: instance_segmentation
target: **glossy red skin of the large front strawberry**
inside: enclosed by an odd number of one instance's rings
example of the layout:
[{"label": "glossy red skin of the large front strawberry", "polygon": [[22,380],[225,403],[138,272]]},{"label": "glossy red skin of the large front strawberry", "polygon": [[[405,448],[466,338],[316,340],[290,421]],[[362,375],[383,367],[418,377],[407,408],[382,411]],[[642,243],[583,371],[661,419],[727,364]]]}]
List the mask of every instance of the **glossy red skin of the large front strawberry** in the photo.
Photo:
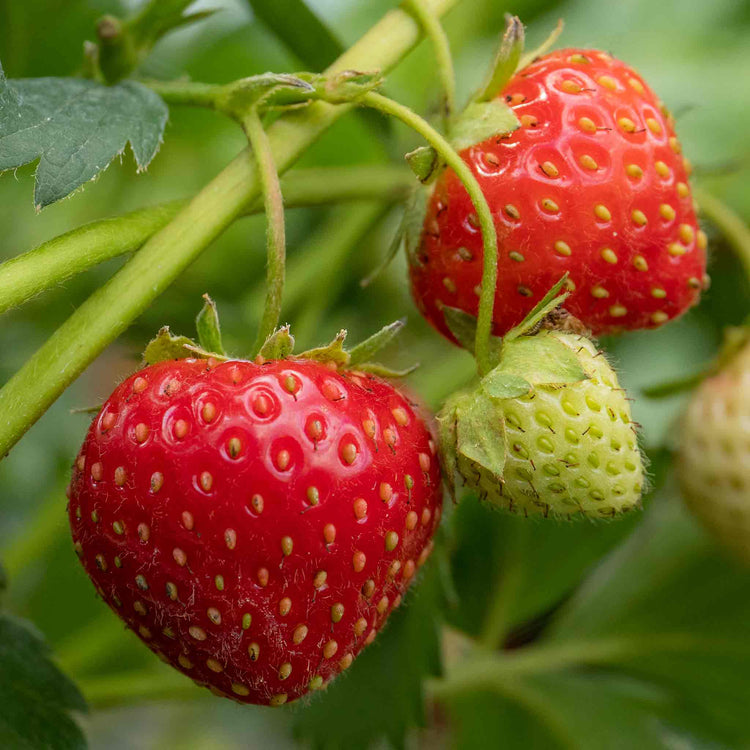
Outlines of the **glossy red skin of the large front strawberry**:
[{"label": "glossy red skin of the large front strawberry", "polygon": [[400,603],[440,520],[434,452],[412,405],[369,375],[301,359],[162,362],[122,383],[92,422],[68,493],[73,540],[102,598],[149,648],[213,692],[278,705],[345,669]]}]

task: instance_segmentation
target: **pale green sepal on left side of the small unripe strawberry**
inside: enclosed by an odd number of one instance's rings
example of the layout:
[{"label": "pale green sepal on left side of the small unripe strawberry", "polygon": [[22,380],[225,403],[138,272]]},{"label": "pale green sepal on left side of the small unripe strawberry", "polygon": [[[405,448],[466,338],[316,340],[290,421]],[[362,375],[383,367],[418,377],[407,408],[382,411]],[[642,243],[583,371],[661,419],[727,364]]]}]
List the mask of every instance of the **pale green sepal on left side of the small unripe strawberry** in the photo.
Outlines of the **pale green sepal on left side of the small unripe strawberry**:
[{"label": "pale green sepal on left side of the small unripe strawberry", "polygon": [[505,423],[486,399],[469,397],[456,409],[456,450],[498,479],[505,468]]}]

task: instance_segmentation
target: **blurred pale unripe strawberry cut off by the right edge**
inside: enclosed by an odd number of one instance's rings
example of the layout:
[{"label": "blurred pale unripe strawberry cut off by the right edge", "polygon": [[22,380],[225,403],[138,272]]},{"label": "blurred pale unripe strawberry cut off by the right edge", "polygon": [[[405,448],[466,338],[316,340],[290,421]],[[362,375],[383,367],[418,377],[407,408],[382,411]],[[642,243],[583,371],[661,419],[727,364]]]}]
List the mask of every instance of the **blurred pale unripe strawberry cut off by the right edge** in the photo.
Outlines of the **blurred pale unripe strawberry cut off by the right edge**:
[{"label": "blurred pale unripe strawberry cut off by the right edge", "polygon": [[680,435],[677,470],[686,504],[750,563],[750,344],[696,390]]}]

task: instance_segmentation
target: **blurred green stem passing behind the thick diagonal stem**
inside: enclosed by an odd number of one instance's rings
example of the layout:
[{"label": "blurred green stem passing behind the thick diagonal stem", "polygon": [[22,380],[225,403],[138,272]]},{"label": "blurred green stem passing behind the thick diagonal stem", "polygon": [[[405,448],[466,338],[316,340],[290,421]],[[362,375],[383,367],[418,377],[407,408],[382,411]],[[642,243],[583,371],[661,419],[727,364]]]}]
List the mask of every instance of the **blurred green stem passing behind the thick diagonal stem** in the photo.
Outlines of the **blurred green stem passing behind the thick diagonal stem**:
[{"label": "blurred green stem passing behind the thick diagonal stem", "polygon": [[[357,200],[398,201],[414,183],[408,169],[391,165],[297,169],[281,181],[287,208]],[[40,292],[125,253],[137,250],[188,205],[176,200],[94,221],[0,264],[0,314]],[[253,202],[247,214],[262,210]]]}]

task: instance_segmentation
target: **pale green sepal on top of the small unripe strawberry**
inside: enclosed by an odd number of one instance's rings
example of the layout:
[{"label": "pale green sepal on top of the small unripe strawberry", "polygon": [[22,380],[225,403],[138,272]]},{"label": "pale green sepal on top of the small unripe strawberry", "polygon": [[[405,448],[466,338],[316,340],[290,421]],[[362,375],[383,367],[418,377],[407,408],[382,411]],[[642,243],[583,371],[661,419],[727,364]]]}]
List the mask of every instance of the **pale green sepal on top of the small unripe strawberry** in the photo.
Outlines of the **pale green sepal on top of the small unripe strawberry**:
[{"label": "pale green sepal on top of the small unripe strawberry", "polygon": [[513,373],[532,385],[557,385],[586,380],[576,353],[550,331],[505,341],[498,370]]}]

